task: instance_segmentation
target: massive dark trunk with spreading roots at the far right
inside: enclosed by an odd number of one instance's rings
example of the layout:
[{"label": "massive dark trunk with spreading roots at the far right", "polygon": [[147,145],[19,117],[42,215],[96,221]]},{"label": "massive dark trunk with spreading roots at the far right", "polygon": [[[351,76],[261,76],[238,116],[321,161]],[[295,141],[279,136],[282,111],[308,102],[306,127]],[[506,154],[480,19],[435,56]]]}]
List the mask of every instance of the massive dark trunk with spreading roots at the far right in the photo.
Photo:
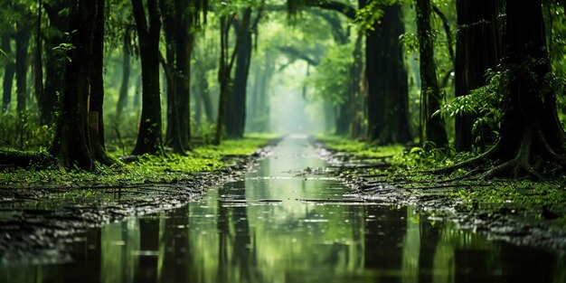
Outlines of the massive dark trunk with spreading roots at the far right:
[{"label": "massive dark trunk with spreading roots at the far right", "polygon": [[505,114],[499,141],[486,154],[501,163],[486,177],[540,178],[545,162],[565,165],[559,155],[564,154],[566,141],[549,76],[542,3],[507,0],[505,8]]}]

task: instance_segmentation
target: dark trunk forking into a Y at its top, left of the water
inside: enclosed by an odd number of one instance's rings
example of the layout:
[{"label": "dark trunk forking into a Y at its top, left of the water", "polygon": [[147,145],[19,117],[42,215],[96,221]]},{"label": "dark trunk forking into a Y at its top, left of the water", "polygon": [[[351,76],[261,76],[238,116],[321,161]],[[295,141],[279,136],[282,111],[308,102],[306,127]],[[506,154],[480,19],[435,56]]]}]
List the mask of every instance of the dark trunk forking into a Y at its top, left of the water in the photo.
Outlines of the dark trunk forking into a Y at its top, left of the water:
[{"label": "dark trunk forking into a Y at its top, left of the water", "polygon": [[142,0],[131,0],[137,35],[139,57],[142,66],[142,114],[137,133],[134,155],[162,155],[163,137],[161,121],[161,98],[159,91],[159,33],[161,19],[156,0],[147,0],[146,13]]}]

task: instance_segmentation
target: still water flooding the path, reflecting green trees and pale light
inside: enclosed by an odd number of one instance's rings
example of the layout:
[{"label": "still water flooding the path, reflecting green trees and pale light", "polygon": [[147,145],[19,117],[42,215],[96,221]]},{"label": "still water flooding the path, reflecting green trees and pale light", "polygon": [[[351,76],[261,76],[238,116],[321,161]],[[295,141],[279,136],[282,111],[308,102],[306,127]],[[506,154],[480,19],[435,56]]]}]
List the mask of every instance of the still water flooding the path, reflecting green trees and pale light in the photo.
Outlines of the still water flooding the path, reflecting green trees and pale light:
[{"label": "still water flooding the path, reflecting green trees and pale light", "polygon": [[316,170],[325,165],[305,137],[288,137],[244,180],[87,231],[70,262],[0,267],[0,282],[566,282],[561,255],[411,207],[335,202],[346,189]]}]

